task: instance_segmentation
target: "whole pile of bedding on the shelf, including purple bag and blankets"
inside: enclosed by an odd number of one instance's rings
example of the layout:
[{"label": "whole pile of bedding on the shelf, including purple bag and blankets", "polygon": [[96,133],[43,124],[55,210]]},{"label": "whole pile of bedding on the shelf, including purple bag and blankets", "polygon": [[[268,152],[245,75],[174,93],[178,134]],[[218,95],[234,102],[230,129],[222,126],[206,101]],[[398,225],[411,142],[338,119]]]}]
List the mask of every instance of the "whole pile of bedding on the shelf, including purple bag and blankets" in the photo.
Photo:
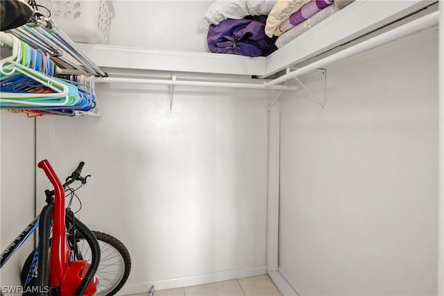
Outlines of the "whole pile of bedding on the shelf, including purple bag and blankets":
[{"label": "whole pile of bedding on the shelf, including purple bag and blankets", "polygon": [[216,0],[200,26],[213,53],[267,56],[352,1]]}]

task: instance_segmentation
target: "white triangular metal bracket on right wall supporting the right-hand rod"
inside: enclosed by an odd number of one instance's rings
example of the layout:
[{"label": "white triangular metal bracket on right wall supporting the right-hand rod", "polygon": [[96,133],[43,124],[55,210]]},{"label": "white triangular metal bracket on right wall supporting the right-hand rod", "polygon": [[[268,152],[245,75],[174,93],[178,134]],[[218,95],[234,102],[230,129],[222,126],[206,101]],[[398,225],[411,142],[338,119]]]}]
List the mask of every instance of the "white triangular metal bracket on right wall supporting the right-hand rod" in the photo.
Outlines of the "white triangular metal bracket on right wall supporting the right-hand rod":
[{"label": "white triangular metal bracket on right wall supporting the right-hand rod", "polygon": [[[296,70],[294,67],[287,67],[287,73]],[[296,81],[302,86],[301,92],[298,92],[298,97],[302,96],[318,105],[325,108],[325,85],[327,78],[327,70],[316,69],[315,71],[305,74],[301,78],[295,77]]]}]

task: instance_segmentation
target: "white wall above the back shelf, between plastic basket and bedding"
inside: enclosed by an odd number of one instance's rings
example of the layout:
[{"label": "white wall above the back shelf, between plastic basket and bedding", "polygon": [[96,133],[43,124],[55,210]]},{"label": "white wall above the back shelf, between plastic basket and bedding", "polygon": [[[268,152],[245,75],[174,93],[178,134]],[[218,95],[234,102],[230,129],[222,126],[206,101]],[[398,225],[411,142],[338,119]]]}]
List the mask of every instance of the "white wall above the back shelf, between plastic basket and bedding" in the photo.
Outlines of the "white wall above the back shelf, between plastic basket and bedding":
[{"label": "white wall above the back shelf, between plastic basket and bedding", "polygon": [[200,28],[212,1],[112,1],[110,45],[207,52],[207,31]]}]

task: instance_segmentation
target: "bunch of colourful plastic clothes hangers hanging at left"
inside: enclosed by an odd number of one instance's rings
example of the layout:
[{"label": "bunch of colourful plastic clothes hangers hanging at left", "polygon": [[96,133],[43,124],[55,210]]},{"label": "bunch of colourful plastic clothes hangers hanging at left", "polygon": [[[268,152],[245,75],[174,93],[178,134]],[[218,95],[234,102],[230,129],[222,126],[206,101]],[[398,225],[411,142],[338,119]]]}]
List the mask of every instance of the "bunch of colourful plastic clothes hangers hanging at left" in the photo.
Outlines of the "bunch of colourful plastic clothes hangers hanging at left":
[{"label": "bunch of colourful plastic clothes hangers hanging at left", "polygon": [[[12,55],[0,60],[2,109],[25,112],[28,116],[43,114],[76,115],[96,107],[96,96],[85,76],[72,76],[71,81],[44,75],[56,73],[56,64],[41,51],[37,51],[12,35],[1,33],[0,42],[12,47]],[[3,42],[2,42],[3,43]],[[92,78],[89,78],[92,83]],[[67,90],[66,90],[67,89]]]}]

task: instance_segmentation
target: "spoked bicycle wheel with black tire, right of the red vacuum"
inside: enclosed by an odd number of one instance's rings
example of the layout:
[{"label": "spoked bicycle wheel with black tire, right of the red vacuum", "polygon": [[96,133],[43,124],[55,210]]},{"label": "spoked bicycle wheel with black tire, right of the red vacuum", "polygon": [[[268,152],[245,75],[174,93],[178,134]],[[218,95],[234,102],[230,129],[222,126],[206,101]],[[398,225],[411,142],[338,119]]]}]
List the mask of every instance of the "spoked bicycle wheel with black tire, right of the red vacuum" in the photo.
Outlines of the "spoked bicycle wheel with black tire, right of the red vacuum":
[{"label": "spoked bicycle wheel with black tire, right of the red vacuum", "polygon": [[[130,252],[125,245],[114,236],[103,232],[92,231],[99,241],[101,260],[96,277],[99,279],[97,295],[114,295],[126,283],[131,270]],[[76,234],[78,252],[84,260],[91,260],[88,243],[82,234]]]}]

